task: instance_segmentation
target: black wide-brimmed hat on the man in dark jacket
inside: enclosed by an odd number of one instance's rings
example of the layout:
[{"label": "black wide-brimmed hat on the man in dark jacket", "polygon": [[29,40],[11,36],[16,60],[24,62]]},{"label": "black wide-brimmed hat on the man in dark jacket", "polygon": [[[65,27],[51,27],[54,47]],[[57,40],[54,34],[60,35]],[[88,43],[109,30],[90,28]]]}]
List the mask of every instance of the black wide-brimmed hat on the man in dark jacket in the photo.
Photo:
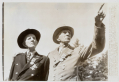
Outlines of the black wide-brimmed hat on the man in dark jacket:
[{"label": "black wide-brimmed hat on the man in dark jacket", "polygon": [[36,36],[36,40],[39,42],[40,37],[41,37],[40,32],[35,29],[26,29],[17,38],[17,43],[20,48],[27,48],[23,45],[23,42],[24,42],[26,35],[28,35],[28,34],[34,34]]}]

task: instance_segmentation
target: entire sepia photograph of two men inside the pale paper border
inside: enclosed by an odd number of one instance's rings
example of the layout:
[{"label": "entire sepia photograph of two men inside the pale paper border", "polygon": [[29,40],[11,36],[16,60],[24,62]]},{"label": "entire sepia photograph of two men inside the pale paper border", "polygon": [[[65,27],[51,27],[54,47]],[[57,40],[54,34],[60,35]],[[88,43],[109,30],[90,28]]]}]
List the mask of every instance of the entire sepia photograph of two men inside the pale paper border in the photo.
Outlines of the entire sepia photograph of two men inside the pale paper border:
[{"label": "entire sepia photograph of two men inside the pale paper border", "polygon": [[108,81],[109,5],[2,3],[3,81]]}]

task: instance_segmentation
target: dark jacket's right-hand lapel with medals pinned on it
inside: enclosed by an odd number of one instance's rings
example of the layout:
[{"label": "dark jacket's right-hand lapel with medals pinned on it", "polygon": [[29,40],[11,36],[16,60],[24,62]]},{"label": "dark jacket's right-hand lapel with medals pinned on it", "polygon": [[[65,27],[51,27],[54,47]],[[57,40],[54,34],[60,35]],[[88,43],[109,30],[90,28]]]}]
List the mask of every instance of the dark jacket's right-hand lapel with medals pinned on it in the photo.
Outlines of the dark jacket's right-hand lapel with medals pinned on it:
[{"label": "dark jacket's right-hand lapel with medals pinned on it", "polygon": [[18,76],[20,76],[22,74],[23,71],[26,71],[27,69],[29,69],[31,66],[33,66],[34,64],[36,64],[37,62],[41,61],[43,59],[42,56],[40,56],[37,52],[34,54],[34,56],[31,58],[31,60],[23,67],[23,69],[21,70],[21,72],[19,73]]}]

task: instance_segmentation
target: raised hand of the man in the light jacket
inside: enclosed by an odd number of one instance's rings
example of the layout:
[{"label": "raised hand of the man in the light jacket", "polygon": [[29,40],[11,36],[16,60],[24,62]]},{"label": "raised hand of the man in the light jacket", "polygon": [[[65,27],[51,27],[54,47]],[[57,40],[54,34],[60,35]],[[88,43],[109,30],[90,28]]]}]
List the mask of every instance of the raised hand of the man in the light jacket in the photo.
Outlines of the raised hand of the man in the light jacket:
[{"label": "raised hand of the man in the light jacket", "polygon": [[95,24],[96,24],[97,27],[101,27],[102,21],[105,18],[105,16],[106,15],[104,14],[103,11],[98,12],[98,15],[95,17]]}]

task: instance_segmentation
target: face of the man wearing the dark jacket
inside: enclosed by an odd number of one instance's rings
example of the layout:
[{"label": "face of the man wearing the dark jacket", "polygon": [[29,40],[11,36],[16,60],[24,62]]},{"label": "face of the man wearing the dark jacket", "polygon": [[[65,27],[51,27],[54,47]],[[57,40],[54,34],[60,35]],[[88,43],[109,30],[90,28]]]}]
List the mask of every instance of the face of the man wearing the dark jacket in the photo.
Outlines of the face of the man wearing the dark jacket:
[{"label": "face of the man wearing the dark jacket", "polygon": [[35,48],[38,43],[34,34],[28,34],[24,41],[28,48]]}]

